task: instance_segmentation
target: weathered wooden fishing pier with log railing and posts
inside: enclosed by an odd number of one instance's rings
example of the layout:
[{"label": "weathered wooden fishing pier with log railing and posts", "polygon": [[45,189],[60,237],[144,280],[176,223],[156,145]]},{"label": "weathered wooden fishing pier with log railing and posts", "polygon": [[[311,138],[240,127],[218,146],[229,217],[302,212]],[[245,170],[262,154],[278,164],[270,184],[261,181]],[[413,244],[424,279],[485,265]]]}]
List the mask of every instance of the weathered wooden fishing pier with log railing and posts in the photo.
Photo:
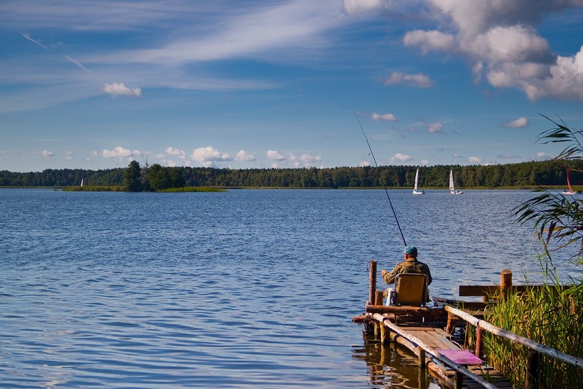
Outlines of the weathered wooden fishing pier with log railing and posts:
[{"label": "weathered wooden fishing pier with log railing and posts", "polygon": [[[572,357],[545,347],[530,339],[495,327],[483,320],[483,309],[494,301],[485,296],[493,292],[508,293],[513,290],[512,272],[502,271],[500,286],[461,286],[464,295],[484,296],[483,302],[463,303],[454,307],[456,301],[441,299],[444,303],[436,307],[387,306],[383,305],[383,291],[376,290],[376,261],[370,262],[370,295],[365,304],[365,313],[352,318],[354,323],[363,323],[363,329],[380,344],[397,342],[409,349],[419,360],[419,368],[436,377],[441,384],[452,389],[461,388],[513,388],[500,371],[485,363],[482,358],[482,334],[489,331],[495,336],[523,344],[530,349],[529,366],[536,368],[539,353],[552,355],[573,366],[583,366],[582,358]],[[461,294],[462,295],[462,294]],[[421,304],[423,305],[423,304]],[[458,309],[462,308],[462,309]],[[463,341],[454,340],[456,326],[476,331],[474,352],[465,349]],[[461,327],[458,327],[461,328]],[[532,361],[530,360],[532,355]],[[529,375],[536,377],[534,372]],[[527,377],[528,378],[528,377]],[[527,388],[536,387],[536,382],[526,380]]]}]

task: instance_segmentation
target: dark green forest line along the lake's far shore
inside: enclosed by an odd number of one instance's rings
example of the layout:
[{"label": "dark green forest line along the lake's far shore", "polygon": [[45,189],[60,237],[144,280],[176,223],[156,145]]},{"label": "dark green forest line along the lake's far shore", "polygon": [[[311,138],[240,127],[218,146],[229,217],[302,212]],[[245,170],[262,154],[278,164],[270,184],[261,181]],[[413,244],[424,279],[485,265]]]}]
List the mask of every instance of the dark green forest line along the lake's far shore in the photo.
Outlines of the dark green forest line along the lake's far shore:
[{"label": "dark green forest line along the lake's far shore", "polygon": [[[583,161],[549,160],[519,164],[471,166],[421,166],[419,186],[446,188],[450,168],[458,188],[500,188],[504,186],[565,186],[567,168],[571,184],[583,185]],[[47,169],[42,172],[0,171],[0,186],[124,186],[129,191],[161,190],[181,186],[278,187],[278,188],[411,188],[417,166],[337,168],[203,168],[140,166],[109,170]]]}]

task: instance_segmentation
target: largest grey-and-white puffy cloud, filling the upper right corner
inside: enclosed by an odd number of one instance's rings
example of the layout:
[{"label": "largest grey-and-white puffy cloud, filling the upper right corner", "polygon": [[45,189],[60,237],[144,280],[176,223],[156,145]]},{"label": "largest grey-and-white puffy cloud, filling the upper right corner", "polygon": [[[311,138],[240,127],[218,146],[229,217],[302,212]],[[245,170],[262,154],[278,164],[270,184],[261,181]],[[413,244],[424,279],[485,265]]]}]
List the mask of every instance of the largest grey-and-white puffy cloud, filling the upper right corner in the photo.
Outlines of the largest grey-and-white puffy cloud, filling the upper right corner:
[{"label": "largest grey-and-white puffy cloud, filling the upper right corner", "polygon": [[[528,99],[583,101],[583,47],[572,56],[555,55],[535,29],[547,14],[583,7],[581,0],[419,0],[437,29],[413,29],[403,43],[422,53],[460,55],[474,80],[495,88],[517,88]],[[391,1],[385,7],[398,7]],[[390,79],[390,77],[389,77]],[[398,77],[396,77],[398,79]]]}]

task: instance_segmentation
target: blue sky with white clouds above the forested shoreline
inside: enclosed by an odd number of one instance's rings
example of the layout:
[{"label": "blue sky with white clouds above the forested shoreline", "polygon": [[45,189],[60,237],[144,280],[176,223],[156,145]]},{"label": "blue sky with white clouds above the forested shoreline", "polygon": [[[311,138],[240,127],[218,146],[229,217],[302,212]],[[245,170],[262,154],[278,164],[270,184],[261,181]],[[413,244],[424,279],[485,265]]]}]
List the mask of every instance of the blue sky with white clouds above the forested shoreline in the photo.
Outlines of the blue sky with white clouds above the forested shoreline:
[{"label": "blue sky with white clouds above the forested shoreline", "polygon": [[506,164],[583,127],[583,0],[0,3],[0,170]]}]

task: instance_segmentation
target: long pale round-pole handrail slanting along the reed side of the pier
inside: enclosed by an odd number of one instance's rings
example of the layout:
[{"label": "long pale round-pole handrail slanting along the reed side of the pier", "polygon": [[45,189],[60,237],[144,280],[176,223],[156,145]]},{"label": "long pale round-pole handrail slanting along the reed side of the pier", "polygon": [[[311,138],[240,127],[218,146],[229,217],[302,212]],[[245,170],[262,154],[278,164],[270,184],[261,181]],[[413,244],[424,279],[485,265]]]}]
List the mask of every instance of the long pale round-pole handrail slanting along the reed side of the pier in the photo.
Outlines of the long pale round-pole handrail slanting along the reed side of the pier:
[{"label": "long pale round-pole handrail slanting along the reed side of the pier", "polygon": [[532,350],[539,351],[540,353],[543,353],[545,355],[549,355],[550,357],[554,357],[572,366],[580,368],[583,367],[583,358],[574,357],[573,355],[569,355],[563,353],[562,351],[552,349],[551,347],[547,347],[539,342],[534,342],[534,340],[530,340],[528,338],[525,338],[524,336],[520,336],[510,331],[506,331],[506,329],[496,327],[495,325],[488,323],[487,321],[471,316],[470,314],[467,314],[462,310],[458,310],[457,308],[454,308],[450,305],[445,305],[445,310],[458,316],[459,318],[462,318],[463,320],[467,321],[467,323],[470,323],[474,327],[482,328],[490,332],[491,334],[501,336],[502,338],[506,338],[508,340],[512,340],[513,342],[522,344],[523,346],[526,346]]}]

